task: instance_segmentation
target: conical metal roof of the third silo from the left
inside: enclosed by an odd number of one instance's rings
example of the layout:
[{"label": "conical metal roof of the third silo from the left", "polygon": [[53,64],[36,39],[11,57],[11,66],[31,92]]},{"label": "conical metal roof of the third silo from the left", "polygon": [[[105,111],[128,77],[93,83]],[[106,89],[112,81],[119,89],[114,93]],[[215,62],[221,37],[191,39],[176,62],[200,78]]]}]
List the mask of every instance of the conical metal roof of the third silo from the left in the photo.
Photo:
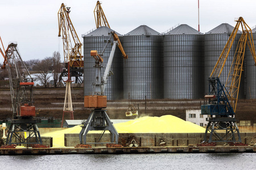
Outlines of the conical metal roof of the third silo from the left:
[{"label": "conical metal roof of the third silo from the left", "polygon": [[203,34],[187,24],[181,24],[164,35],[198,35]]}]

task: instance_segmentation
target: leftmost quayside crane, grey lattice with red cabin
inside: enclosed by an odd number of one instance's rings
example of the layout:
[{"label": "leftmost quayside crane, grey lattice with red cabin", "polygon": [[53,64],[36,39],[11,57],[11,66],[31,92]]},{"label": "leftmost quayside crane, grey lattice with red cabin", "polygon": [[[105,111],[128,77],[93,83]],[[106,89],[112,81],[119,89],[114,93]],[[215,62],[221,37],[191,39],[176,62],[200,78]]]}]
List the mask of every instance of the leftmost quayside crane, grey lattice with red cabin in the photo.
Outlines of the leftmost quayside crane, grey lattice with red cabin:
[{"label": "leftmost quayside crane, grey lattice with red cabin", "polygon": [[20,57],[16,42],[10,42],[5,52],[2,49],[0,51],[5,59],[2,69],[7,68],[9,72],[13,108],[13,118],[7,133],[6,145],[28,144],[32,147],[34,145],[43,147],[39,129],[36,125],[39,119],[35,118],[33,78]]}]

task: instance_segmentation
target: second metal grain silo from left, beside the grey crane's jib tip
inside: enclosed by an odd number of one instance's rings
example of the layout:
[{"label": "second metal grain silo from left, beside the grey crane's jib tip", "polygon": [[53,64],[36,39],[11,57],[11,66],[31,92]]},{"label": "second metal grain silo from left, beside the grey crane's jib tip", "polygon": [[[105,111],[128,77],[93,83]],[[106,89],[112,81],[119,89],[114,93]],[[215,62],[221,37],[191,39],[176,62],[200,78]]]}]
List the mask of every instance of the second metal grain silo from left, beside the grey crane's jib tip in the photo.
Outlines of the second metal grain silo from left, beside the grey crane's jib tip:
[{"label": "second metal grain silo from left, beside the grey crane's jib tip", "polygon": [[124,99],[162,98],[162,35],[141,25],[123,36],[128,58],[123,61]]}]

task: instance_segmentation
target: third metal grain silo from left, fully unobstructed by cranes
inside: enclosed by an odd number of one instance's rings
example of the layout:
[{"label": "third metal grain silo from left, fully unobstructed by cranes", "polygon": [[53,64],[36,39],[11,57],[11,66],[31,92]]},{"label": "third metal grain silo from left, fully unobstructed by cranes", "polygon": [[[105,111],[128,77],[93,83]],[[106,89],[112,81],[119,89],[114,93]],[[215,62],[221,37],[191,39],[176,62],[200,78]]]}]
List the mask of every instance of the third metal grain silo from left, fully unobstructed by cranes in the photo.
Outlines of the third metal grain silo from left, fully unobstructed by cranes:
[{"label": "third metal grain silo from left, fully unobstructed by cranes", "polygon": [[164,98],[203,97],[203,33],[181,24],[164,34]]}]

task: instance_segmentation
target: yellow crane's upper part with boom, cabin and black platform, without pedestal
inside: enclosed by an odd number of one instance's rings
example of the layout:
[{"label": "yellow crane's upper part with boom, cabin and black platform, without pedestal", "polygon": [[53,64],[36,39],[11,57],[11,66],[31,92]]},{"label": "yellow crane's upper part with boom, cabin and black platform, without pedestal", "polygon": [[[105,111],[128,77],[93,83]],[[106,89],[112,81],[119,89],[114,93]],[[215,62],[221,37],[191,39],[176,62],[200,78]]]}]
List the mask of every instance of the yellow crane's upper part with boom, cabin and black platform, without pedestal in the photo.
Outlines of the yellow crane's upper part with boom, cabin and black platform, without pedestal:
[{"label": "yellow crane's upper part with boom, cabin and black platform, without pedestal", "polygon": [[[82,56],[82,43],[77,36],[75,27],[73,26],[69,17],[70,7],[65,7],[64,3],[61,4],[58,12],[59,21],[59,37],[62,33],[64,62],[66,69],[60,75],[60,82],[63,76],[68,76],[68,62],[70,65],[70,76],[75,77],[75,83],[82,83],[80,79],[84,75],[84,61]],[[71,41],[72,40],[72,41]],[[72,43],[73,42],[73,43]],[[72,45],[73,44],[73,45]]]}]

